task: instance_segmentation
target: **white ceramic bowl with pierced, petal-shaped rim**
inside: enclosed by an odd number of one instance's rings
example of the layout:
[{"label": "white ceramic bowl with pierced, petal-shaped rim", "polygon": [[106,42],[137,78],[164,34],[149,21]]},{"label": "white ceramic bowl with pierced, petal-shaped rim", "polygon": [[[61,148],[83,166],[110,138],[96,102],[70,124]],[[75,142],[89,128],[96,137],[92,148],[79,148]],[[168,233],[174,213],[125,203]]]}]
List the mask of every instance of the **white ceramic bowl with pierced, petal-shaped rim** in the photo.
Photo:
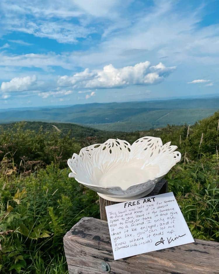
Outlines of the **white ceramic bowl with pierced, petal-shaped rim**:
[{"label": "white ceramic bowl with pierced, petal-shaped rim", "polygon": [[144,197],[181,159],[176,145],[163,145],[161,138],[145,136],[132,145],[109,139],[82,148],[68,159],[69,177],[111,201]]}]

